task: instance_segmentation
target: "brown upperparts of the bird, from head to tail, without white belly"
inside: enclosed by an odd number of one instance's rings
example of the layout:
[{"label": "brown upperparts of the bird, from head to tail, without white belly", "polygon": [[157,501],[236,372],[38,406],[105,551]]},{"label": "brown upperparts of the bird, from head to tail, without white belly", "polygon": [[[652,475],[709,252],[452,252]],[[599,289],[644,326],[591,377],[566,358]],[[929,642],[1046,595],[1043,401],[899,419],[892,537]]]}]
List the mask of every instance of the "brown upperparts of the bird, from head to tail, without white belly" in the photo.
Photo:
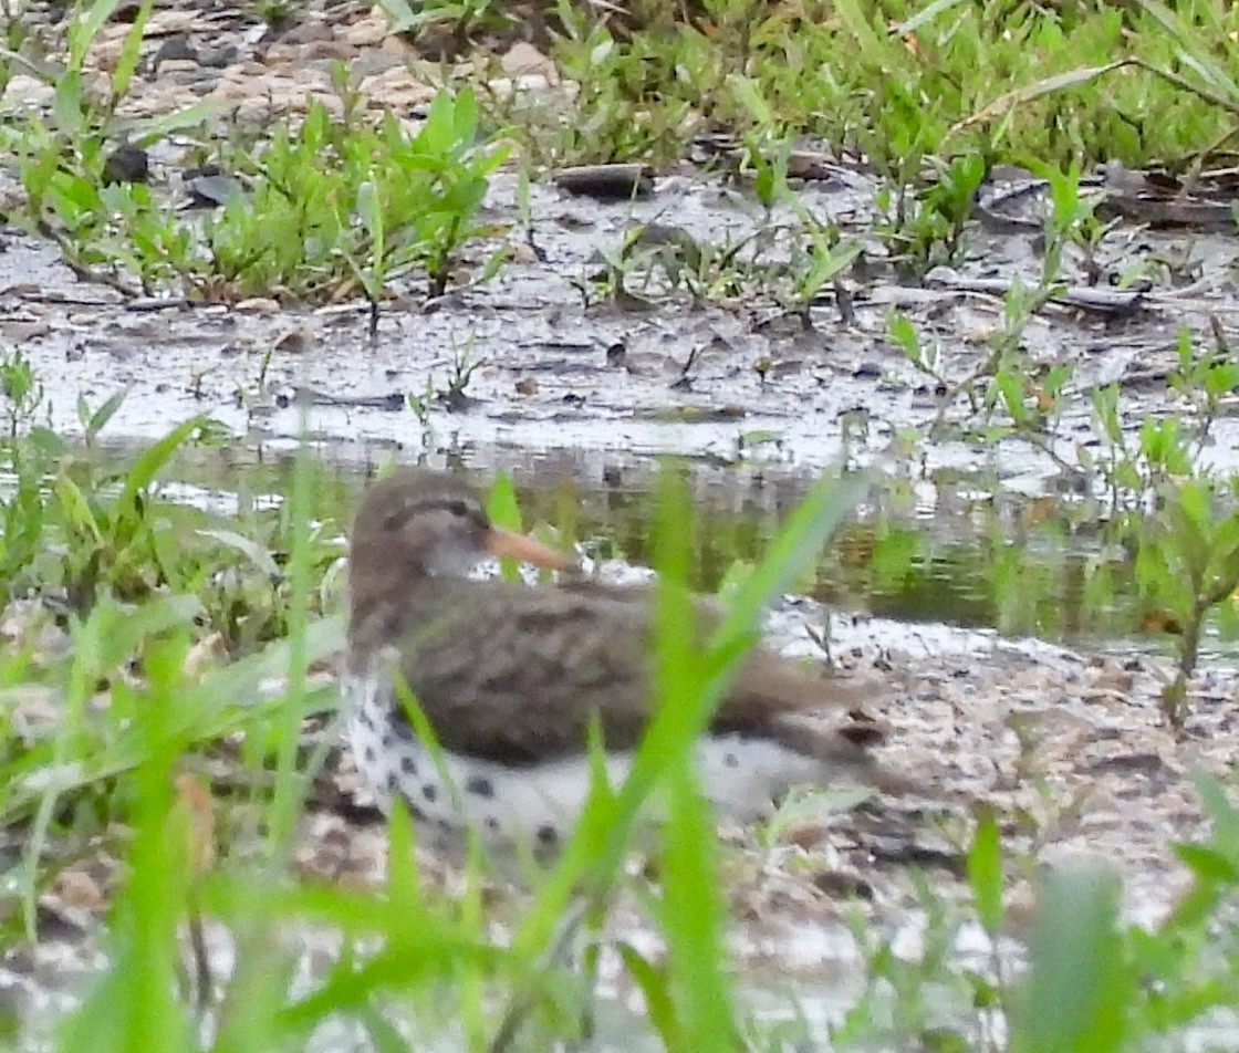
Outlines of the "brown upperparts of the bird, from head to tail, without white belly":
[{"label": "brown upperparts of the bird, from head to tail, without white belly", "polygon": [[[650,714],[650,593],[463,576],[499,550],[567,564],[538,543],[494,531],[455,477],[405,470],[372,486],[353,529],[351,673],[373,673],[387,648],[455,753],[513,767],[580,756],[595,712],[607,748],[631,749]],[[696,610],[704,638],[717,614],[710,601]],[[856,712],[872,696],[872,685],[810,679],[757,647],[710,730],[764,737],[855,774],[882,737]]]}]

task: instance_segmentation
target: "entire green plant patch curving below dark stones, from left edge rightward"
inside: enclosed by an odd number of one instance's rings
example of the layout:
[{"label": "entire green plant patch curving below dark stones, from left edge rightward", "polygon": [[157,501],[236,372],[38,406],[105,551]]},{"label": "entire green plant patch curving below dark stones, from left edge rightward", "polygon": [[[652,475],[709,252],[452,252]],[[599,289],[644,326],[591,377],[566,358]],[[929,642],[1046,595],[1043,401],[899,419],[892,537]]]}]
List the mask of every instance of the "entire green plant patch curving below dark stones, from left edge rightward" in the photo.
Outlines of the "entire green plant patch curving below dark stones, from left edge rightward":
[{"label": "entire green plant patch curving below dark stones, from left edge rightward", "polygon": [[[342,77],[337,90],[356,108]],[[440,296],[462,247],[498,233],[476,216],[507,147],[477,142],[467,89],[440,93],[416,134],[394,116],[373,129],[351,111],[336,121],[312,104],[295,131],[278,129],[234,151],[225,167],[245,190],[201,229],[147,186],[105,182],[105,119],[79,98],[64,108],[78,115],[72,164],[61,139],[35,124],[7,139],[27,192],[20,218],[53,238],[82,276],[130,295],[139,291],[134,279],[147,295],[180,286],[204,301],[313,301],[356,286],[370,304],[373,333],[393,281],[420,270],[427,295]],[[182,114],[178,124],[190,119]],[[84,139],[83,124],[95,129]],[[502,248],[492,251],[477,280],[493,276],[503,259]]]}]

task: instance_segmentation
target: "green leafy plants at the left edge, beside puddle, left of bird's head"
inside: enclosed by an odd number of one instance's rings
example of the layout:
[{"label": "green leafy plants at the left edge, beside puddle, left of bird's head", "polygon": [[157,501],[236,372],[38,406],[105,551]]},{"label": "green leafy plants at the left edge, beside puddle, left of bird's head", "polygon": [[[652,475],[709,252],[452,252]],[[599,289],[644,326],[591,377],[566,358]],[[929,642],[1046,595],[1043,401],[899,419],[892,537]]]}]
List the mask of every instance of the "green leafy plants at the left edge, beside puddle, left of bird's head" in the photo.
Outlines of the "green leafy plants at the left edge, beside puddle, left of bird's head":
[{"label": "green leafy plants at the left edge, beside puddle, left of bird's head", "polygon": [[[94,413],[79,406],[92,442],[118,405],[114,396]],[[249,654],[286,633],[287,520],[255,517],[243,534],[157,493],[157,476],[185,447],[219,440],[214,421],[195,419],[119,470],[43,436],[12,445],[17,484],[2,507],[0,601],[38,593],[84,616],[104,598],[142,602],[171,591],[192,596],[202,637],[213,637],[223,653]],[[322,524],[312,531],[320,572],[339,555],[331,530]]]}]

